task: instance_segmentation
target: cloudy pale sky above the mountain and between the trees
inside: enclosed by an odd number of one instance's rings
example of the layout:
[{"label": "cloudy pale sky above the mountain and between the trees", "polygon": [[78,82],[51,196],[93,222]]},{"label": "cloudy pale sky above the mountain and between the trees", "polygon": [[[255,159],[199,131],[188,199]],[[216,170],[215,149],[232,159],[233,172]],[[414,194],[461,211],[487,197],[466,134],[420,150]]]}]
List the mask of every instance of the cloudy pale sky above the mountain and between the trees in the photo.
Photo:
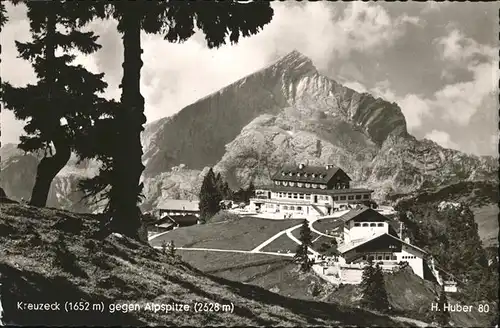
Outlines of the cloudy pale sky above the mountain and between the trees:
[{"label": "cloudy pale sky above the mountain and between the trees", "polygon": [[[201,32],[184,43],[142,36],[142,95],[148,122],[298,50],[318,70],[359,92],[396,102],[417,138],[476,155],[498,155],[498,8],[496,3],[274,2],[274,18],[237,45],[208,49]],[[36,83],[14,41],[30,38],[26,8],[8,5],[0,32],[0,74]],[[102,48],[76,63],[104,72],[105,96],[119,98],[123,48],[116,22],[87,29]],[[23,122],[2,109],[1,142],[17,143]]]}]

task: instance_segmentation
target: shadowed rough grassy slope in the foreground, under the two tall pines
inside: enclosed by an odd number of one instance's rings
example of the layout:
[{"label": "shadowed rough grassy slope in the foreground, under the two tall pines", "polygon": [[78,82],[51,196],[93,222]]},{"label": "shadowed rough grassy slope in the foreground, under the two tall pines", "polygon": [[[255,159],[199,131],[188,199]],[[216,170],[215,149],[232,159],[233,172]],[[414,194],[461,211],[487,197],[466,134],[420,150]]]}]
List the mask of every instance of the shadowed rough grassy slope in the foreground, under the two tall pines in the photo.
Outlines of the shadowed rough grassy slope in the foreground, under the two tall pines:
[{"label": "shadowed rough grassy slope in the foreground, under the two tall pines", "polygon": [[[92,215],[0,205],[0,275],[8,322],[20,325],[379,325],[389,318],[349,307],[286,298],[207,275],[127,238],[96,239]],[[17,311],[17,301],[219,302],[232,313]]]}]

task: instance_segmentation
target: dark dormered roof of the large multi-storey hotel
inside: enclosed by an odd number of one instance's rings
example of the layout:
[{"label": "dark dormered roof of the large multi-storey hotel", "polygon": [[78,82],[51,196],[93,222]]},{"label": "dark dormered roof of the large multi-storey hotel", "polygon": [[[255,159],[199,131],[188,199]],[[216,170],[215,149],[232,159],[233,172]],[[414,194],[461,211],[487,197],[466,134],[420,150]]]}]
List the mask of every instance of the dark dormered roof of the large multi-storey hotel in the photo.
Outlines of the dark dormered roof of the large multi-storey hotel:
[{"label": "dark dormered roof of the large multi-storey hotel", "polygon": [[[301,166],[285,165],[273,175],[272,179],[281,181],[299,181],[299,182],[326,184],[339,171],[342,170],[333,165],[325,165],[325,166],[310,166],[310,165],[302,166],[302,164]],[[291,176],[290,173],[292,174]],[[347,174],[346,176],[349,180],[351,180]]]}]

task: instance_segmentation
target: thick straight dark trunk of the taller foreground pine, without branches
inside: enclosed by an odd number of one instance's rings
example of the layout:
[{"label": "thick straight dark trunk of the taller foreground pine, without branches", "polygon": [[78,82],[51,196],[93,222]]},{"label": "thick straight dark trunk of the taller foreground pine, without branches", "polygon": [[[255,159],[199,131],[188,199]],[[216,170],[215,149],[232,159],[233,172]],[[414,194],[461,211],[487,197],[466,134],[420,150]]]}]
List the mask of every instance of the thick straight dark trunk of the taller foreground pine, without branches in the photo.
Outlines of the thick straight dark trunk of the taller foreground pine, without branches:
[{"label": "thick straight dark trunk of the taller foreground pine, without branches", "polygon": [[[129,2],[129,6],[136,5]],[[140,5],[140,4],[138,4]],[[146,123],[144,98],[140,90],[141,77],[141,25],[138,10],[125,11],[123,15],[123,78],[122,111],[119,114],[119,144],[115,153],[115,178],[112,196],[113,222],[111,229],[139,239],[141,211],[138,207],[142,186],[139,184],[144,170],[142,164],[141,132]]]}]

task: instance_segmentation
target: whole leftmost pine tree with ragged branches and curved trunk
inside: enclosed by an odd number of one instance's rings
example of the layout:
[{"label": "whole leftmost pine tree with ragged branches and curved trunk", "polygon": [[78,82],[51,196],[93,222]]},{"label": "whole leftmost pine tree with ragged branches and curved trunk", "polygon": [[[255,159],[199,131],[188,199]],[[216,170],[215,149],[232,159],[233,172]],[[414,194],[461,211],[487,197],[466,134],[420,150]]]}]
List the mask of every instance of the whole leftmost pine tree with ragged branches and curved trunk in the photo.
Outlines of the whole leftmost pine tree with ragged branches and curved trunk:
[{"label": "whole leftmost pine tree with ragged branches and curved trunk", "polygon": [[[80,153],[88,129],[113,102],[96,95],[107,87],[102,80],[104,74],[71,65],[74,51],[91,54],[100,48],[93,32],[79,30],[94,16],[92,7],[73,1],[25,4],[33,41],[16,42],[16,47],[20,57],[31,62],[38,82],[25,87],[3,83],[2,101],[17,119],[27,120],[27,135],[21,136],[18,147],[45,153],[37,167],[30,200],[31,205],[45,206],[52,180],[72,151]],[[61,55],[56,55],[58,50]]]}]

